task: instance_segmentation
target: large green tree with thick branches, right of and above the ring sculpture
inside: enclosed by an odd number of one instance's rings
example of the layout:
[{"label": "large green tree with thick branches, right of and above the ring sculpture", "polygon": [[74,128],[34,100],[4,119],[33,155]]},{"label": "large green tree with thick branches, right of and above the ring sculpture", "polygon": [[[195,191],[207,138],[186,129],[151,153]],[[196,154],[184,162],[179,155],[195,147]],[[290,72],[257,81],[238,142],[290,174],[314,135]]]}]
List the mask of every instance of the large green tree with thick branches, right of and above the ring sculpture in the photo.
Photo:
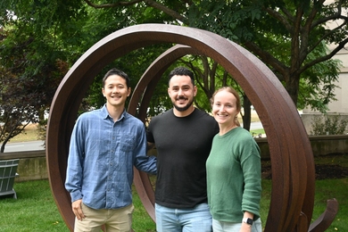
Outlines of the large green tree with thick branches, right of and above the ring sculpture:
[{"label": "large green tree with thick branches, right of and above the ring sculpture", "polygon": [[[172,20],[211,30],[244,46],[275,72],[294,104],[301,108],[310,105],[325,111],[325,104],[335,100],[333,89],[339,63],[331,58],[348,42],[348,18],[344,12],[347,1],[85,2],[95,9],[145,4],[170,15]],[[332,22],[336,26],[327,28]],[[327,51],[327,45],[334,48]]]}]

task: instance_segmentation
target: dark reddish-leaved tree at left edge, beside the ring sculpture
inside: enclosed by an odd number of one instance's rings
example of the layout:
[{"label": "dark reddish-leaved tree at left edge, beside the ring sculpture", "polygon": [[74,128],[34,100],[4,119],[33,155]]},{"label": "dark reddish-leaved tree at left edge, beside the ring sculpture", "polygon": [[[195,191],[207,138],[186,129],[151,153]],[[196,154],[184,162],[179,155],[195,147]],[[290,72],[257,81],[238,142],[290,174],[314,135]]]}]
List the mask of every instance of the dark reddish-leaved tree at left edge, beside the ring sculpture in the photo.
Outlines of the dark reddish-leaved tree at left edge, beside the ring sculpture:
[{"label": "dark reddish-leaved tree at left edge, beside the ring sculpture", "polygon": [[[65,62],[50,60],[33,51],[33,38],[16,40],[9,45],[11,37],[2,30],[0,52],[0,153],[12,137],[20,134],[29,123],[42,120],[43,113],[52,102],[55,88],[68,70]],[[50,49],[45,44],[41,48]],[[46,62],[42,62],[42,61]],[[30,70],[36,68],[35,70]],[[42,78],[45,77],[45,78]],[[41,116],[41,119],[40,119]]]}]

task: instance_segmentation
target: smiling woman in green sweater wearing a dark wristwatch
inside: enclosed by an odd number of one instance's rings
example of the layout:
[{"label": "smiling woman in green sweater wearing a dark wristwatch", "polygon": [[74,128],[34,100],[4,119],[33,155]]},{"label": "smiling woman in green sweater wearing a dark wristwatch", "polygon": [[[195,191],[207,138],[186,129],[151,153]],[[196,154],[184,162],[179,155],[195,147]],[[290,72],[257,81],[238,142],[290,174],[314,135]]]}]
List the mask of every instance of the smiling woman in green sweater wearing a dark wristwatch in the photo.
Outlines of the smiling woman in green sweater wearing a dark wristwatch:
[{"label": "smiling woman in green sweater wearing a dark wristwatch", "polygon": [[232,87],[221,87],[211,98],[220,126],[206,162],[208,203],[214,232],[261,232],[261,155],[249,131],[240,128],[240,98]]}]

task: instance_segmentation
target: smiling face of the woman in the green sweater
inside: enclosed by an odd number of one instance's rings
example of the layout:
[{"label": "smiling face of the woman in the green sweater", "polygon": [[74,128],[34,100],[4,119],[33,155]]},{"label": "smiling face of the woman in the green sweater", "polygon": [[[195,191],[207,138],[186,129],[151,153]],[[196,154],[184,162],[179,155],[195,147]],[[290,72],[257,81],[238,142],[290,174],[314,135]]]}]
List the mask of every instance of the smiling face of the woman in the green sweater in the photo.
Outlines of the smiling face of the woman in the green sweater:
[{"label": "smiling face of the woman in the green sweater", "polygon": [[236,116],[240,109],[236,104],[236,96],[228,90],[221,90],[214,95],[212,115],[214,119],[225,127],[236,126]]}]

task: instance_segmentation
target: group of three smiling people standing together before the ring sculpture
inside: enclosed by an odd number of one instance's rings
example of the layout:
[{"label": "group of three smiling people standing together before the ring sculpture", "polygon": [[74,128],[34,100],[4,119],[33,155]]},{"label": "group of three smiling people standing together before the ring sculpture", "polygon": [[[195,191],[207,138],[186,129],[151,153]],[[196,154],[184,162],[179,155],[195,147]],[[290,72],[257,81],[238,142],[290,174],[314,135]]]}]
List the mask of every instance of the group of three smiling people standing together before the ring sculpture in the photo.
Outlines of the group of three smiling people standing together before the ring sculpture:
[{"label": "group of three smiling people standing together before the ring sculpture", "polygon": [[[65,186],[74,231],[99,231],[102,225],[130,231],[133,165],[157,172],[157,232],[261,231],[260,149],[236,120],[241,110],[236,90],[215,92],[211,117],[193,105],[193,72],[172,70],[173,108],[151,120],[146,137],[143,122],[125,111],[128,75],[108,71],[102,92],[104,107],[83,113],[71,135]],[[156,146],[157,163],[146,156],[146,139],[148,148]]]}]

